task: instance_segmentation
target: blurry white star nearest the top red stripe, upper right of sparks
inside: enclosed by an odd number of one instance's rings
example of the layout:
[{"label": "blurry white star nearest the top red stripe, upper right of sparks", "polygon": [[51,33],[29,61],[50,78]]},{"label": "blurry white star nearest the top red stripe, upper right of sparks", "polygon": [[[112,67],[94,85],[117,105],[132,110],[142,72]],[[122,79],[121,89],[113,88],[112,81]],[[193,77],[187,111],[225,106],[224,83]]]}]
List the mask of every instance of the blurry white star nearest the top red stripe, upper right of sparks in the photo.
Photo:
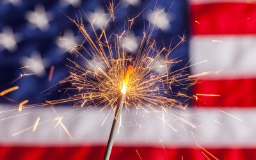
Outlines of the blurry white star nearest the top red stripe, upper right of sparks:
[{"label": "blurry white star nearest the top red stripe, upper right of sparks", "polygon": [[154,12],[148,13],[147,20],[156,28],[168,31],[171,28],[170,22],[173,21],[173,15],[164,12],[164,9],[156,9]]}]

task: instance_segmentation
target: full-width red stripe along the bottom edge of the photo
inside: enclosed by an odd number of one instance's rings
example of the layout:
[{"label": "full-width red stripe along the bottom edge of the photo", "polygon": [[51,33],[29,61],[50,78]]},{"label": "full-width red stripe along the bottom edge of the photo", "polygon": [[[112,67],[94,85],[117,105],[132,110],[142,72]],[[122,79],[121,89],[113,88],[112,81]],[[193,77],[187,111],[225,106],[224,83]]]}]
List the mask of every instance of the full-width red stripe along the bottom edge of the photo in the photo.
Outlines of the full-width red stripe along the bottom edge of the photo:
[{"label": "full-width red stripe along the bottom edge of the photo", "polygon": [[[104,147],[0,147],[0,159],[103,159]],[[207,159],[199,148],[114,147],[110,159]],[[208,149],[218,159],[256,159],[255,148]],[[204,152],[204,154],[202,154]],[[181,157],[182,156],[182,157]]]}]

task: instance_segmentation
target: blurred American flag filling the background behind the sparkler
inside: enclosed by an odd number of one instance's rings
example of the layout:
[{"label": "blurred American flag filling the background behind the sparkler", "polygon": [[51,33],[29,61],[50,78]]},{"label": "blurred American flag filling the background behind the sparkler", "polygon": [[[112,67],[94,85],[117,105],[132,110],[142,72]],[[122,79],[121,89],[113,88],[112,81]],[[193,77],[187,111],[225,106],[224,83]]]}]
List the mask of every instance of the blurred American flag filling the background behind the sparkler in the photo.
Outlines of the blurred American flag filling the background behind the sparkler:
[{"label": "blurred American flag filling the background behind the sparkler", "polygon": [[154,29],[159,45],[175,46],[179,36],[186,36],[171,54],[182,60],[172,70],[207,60],[186,72],[214,74],[189,87],[197,100],[180,113],[198,124],[196,129],[173,123],[173,131],[154,115],[128,115],[110,159],[256,159],[256,1],[115,1],[114,22],[108,3],[0,1],[0,92],[19,86],[0,96],[0,159],[103,159],[111,127],[111,118],[104,120],[108,113],[70,109],[72,103],[22,112],[17,106],[26,99],[35,104],[63,97],[56,84],[68,76],[70,48],[83,43],[70,19],[83,17],[91,32],[93,20],[96,29],[110,34],[113,28],[122,32],[124,20],[139,15],[124,41],[136,51],[154,11],[161,11]]}]

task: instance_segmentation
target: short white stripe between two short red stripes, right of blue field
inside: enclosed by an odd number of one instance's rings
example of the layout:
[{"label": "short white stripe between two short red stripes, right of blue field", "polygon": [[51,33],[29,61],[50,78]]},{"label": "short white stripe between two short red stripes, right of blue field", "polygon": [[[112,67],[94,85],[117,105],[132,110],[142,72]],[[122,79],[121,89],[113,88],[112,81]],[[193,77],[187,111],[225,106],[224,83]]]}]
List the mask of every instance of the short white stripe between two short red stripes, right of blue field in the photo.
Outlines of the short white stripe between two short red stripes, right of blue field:
[{"label": "short white stripe between two short red stripes, right of blue field", "polygon": [[218,72],[205,78],[236,79],[256,77],[256,36],[193,36],[189,54],[191,63],[207,60],[191,67],[193,74]]}]

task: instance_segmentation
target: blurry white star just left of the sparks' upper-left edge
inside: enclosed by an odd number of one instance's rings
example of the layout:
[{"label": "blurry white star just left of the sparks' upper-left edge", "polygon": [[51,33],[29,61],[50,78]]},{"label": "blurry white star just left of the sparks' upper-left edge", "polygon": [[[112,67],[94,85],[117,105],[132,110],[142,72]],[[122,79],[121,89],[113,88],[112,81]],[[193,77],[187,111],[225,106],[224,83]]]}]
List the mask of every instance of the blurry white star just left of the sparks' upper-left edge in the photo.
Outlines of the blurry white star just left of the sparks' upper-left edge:
[{"label": "blurry white star just left of the sparks' upper-left edge", "polygon": [[76,48],[80,42],[81,38],[79,38],[79,36],[74,36],[72,30],[65,31],[63,36],[60,36],[60,38],[56,40],[58,47],[66,51],[72,51],[72,49]]}]

